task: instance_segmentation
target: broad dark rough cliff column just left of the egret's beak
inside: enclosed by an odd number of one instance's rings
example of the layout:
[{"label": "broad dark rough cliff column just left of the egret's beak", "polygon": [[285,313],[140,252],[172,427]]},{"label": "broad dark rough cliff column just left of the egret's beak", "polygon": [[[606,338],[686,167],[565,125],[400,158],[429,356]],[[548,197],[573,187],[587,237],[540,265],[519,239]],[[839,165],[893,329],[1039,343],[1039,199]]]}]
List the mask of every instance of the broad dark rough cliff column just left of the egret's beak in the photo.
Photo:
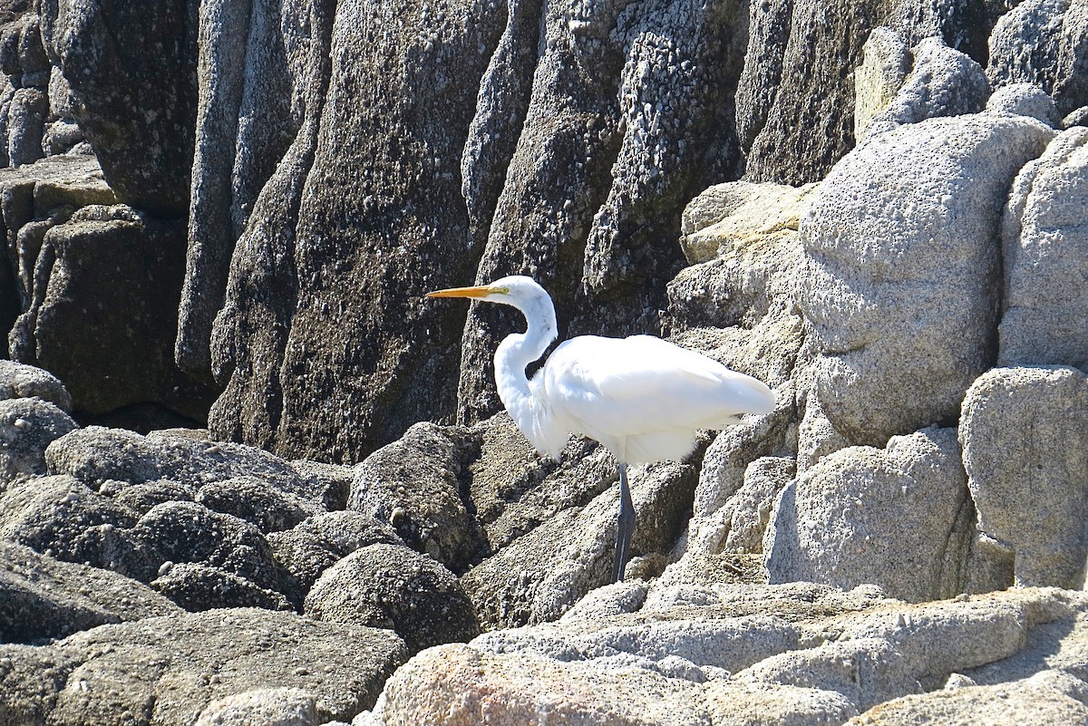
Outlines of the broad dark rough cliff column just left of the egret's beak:
[{"label": "broad dark rough cliff column just left of the egret's beak", "polygon": [[[236,247],[212,361],[227,390],[211,427],[293,456],[359,461],[454,410],[457,359],[447,353],[460,314],[421,296],[471,278],[455,171],[502,13],[455,0],[397,5],[394,30],[381,3],[339,3],[335,14],[332,4],[299,13],[316,16],[312,60],[290,48],[305,36],[284,36],[294,92],[306,100],[292,165],[264,193],[287,204],[286,226],[250,229]],[[290,21],[283,26],[295,34]],[[407,91],[417,88],[432,92]],[[307,174],[324,182],[304,195]],[[269,277],[286,296],[265,304],[251,285]]]}]

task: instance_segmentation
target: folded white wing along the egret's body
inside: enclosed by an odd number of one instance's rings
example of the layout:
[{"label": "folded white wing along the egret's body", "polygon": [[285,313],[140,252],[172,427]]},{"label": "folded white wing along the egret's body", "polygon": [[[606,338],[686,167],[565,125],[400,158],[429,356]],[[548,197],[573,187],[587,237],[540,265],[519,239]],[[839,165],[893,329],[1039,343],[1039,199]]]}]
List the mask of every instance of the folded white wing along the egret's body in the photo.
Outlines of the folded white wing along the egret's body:
[{"label": "folded white wing along the egret's body", "polygon": [[769,413],[761,381],[653,336],[582,336],[559,346],[544,368],[553,415],[602,442],[651,431],[690,431]]}]

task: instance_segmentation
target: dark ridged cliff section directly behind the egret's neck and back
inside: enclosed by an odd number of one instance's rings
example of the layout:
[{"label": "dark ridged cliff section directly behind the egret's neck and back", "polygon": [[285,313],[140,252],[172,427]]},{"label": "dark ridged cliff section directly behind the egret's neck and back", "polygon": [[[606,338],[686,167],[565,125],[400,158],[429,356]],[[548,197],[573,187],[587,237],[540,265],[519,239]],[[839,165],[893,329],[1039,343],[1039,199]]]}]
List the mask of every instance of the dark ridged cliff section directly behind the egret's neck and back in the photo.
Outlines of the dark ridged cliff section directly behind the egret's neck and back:
[{"label": "dark ridged cliff section directly behind the egret's neck and back", "polygon": [[[487,195],[467,198],[470,215],[490,223],[479,281],[532,274],[566,337],[660,331],[664,286],[682,264],[683,204],[739,162],[740,12],[732,0],[544,3],[537,25],[511,24],[507,36],[528,38],[504,38],[500,50],[533,43],[539,53],[493,63],[481,83],[473,130],[517,143],[502,158],[473,145],[466,154],[474,187],[496,179]],[[511,78],[531,91],[510,92]],[[492,356],[521,325],[502,305],[469,310],[461,422],[500,409]]]}]

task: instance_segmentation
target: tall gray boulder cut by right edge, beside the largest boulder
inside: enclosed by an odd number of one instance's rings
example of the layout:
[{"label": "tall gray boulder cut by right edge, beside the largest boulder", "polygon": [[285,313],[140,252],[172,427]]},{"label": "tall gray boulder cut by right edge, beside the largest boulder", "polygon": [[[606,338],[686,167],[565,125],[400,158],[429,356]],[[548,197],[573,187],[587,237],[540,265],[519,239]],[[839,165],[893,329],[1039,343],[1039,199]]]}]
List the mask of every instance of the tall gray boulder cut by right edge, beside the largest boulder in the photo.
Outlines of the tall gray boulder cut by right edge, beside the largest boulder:
[{"label": "tall gray boulder cut by right edge, beside the largest boulder", "polygon": [[1001,365],[1088,365],[1088,305],[1083,279],[1088,250],[1088,129],[1071,128],[1016,177],[1001,227],[1004,308]]}]

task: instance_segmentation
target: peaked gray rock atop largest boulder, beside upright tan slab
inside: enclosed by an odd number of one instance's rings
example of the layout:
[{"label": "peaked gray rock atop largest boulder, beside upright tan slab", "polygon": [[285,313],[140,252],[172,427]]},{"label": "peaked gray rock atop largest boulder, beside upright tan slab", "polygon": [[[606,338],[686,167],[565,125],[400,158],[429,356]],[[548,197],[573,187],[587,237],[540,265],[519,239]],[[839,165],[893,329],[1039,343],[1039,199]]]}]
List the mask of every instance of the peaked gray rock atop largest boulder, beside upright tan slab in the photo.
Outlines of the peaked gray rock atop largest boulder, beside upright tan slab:
[{"label": "peaked gray rock atop largest boulder, beside upright tan slab", "polygon": [[982,66],[944,45],[925,38],[911,49],[911,72],[888,105],[876,113],[866,134],[882,134],[925,118],[978,113],[987,108],[990,84]]}]

